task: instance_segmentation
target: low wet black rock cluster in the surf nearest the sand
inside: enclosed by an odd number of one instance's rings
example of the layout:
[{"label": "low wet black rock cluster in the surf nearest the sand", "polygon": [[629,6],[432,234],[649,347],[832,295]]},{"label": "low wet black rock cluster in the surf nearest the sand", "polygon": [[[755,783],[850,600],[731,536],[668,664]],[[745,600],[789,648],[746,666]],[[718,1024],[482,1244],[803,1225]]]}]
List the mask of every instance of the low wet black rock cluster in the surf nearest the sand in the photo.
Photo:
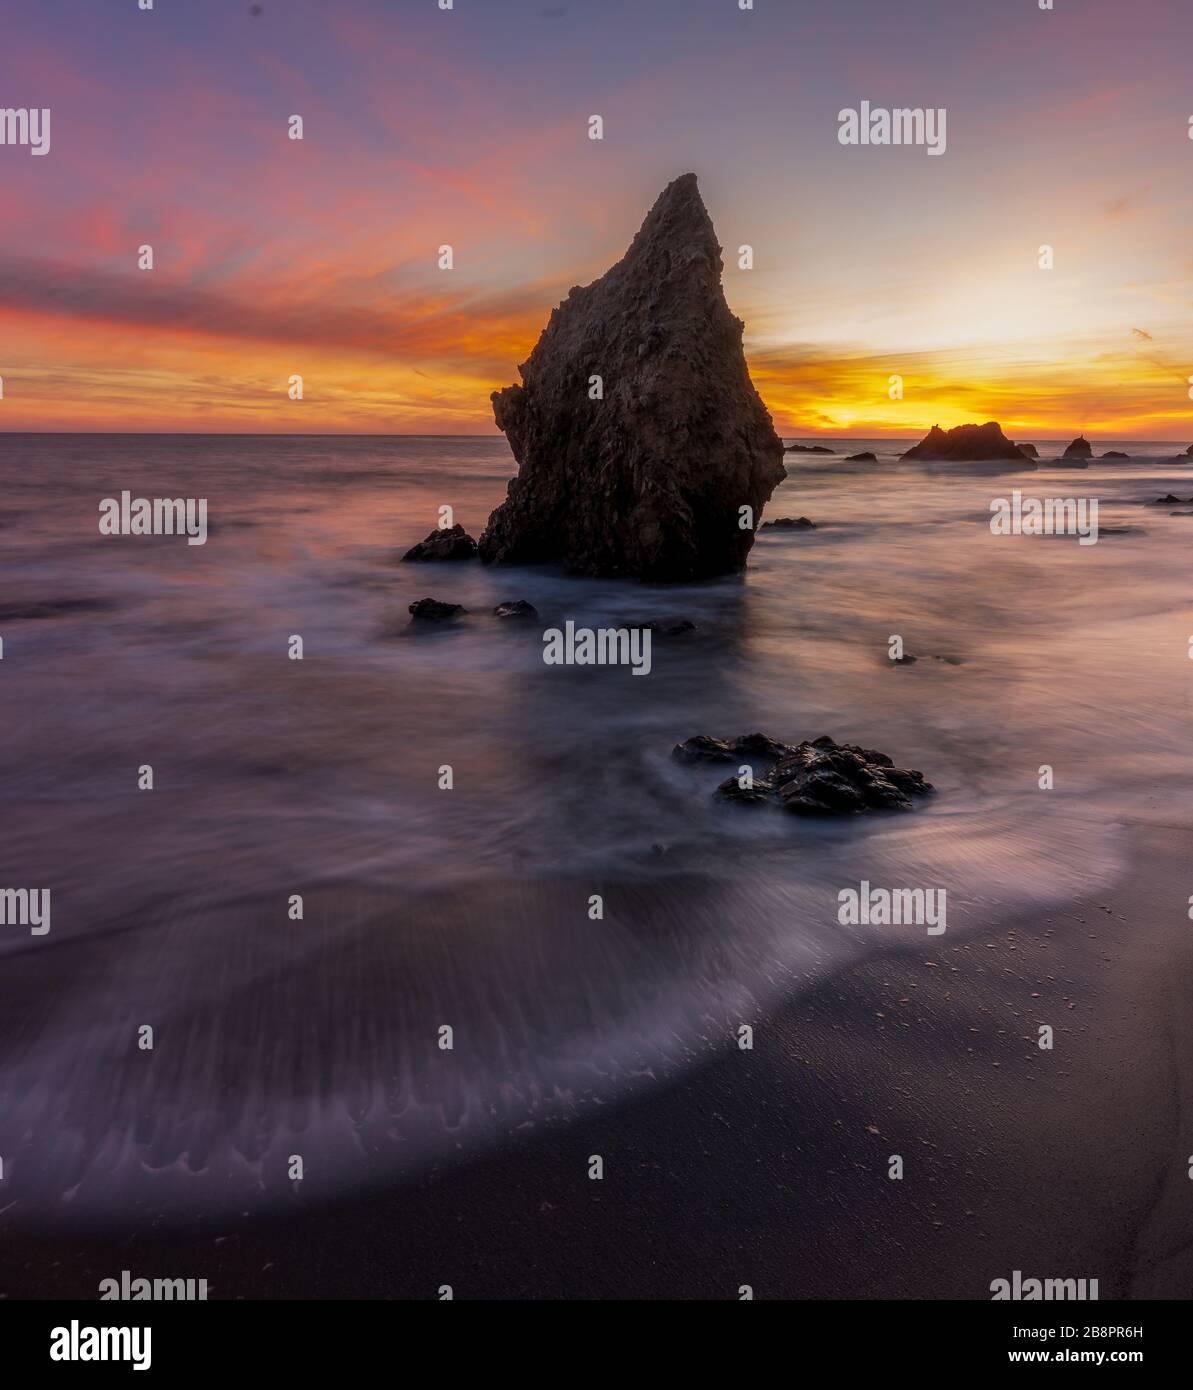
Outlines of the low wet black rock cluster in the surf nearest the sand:
[{"label": "low wet black rock cluster in the surf nearest the sand", "polygon": [[911,810],[912,798],[934,790],[923,773],[895,767],[886,753],[838,744],[827,734],[795,745],[766,734],[733,739],[698,734],[677,744],[674,756],[687,763],[749,766],[752,780],[745,787],[736,773],[717,787],[717,795],[745,805],[781,806],[797,816]]}]

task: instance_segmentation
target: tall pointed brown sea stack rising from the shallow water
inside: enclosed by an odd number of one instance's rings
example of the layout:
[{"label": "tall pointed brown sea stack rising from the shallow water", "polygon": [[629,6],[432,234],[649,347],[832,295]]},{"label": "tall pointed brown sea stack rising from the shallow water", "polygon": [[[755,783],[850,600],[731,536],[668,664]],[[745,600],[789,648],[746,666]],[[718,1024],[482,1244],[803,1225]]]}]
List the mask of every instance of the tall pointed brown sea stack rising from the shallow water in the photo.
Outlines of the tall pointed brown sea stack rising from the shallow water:
[{"label": "tall pointed brown sea stack rising from the shallow water", "polygon": [[786,470],[720,272],[684,174],[624,257],[552,311],[521,385],[494,392],[519,471],[481,535],[482,560],[652,581],[745,564],[754,530],[740,509],[756,527]]}]

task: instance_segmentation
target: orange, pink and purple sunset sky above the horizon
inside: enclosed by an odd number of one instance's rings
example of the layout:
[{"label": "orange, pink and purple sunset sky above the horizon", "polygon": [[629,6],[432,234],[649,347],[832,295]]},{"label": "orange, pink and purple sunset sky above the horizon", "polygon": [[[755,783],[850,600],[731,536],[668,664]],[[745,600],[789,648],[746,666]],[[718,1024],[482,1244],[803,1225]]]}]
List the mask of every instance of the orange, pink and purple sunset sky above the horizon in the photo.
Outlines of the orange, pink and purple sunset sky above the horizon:
[{"label": "orange, pink and purple sunset sky above the horizon", "polygon": [[691,170],[781,434],[1193,441],[1190,0],[140,3],[0,8],[0,431],[495,434]]}]

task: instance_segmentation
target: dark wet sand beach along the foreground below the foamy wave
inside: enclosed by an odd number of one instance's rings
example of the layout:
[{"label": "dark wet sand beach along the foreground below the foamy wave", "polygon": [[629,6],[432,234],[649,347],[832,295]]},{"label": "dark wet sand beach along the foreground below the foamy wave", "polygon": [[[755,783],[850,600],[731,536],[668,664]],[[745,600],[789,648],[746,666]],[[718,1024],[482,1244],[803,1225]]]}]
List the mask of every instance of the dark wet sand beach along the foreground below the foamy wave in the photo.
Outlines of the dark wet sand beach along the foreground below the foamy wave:
[{"label": "dark wet sand beach along the foreground below the foamy wave", "polygon": [[758,1019],[752,1051],[381,1195],[157,1237],[8,1211],[0,1294],[131,1269],[213,1298],[989,1298],[1019,1269],[1187,1298],[1193,834],[1130,842],[1114,890],[901,940]]}]

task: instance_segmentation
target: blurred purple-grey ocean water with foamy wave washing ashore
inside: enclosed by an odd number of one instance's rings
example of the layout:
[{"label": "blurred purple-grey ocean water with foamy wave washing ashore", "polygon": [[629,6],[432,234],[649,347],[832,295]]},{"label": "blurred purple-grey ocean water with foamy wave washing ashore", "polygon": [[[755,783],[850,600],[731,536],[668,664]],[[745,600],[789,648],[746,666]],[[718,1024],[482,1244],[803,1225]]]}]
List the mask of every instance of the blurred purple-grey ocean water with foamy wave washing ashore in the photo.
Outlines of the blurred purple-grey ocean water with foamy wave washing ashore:
[{"label": "blurred purple-grey ocean water with foamy wave washing ashore", "polygon": [[[947,890],[952,937],[1119,878],[1122,824],[1193,802],[1193,461],[904,448],[787,455],[766,517],[815,531],[651,588],[398,563],[442,506],[480,534],[503,438],[0,435],[0,887],[53,892],[47,934],[0,927],[10,1218],[403,1182],[658,1086],[916,930],[843,926],[841,890]],[[1110,534],[993,535],[1014,488],[1096,496]],[[122,491],[206,498],[207,543],[100,535]],[[421,596],[467,613],[412,630]],[[695,631],[645,678],[542,660],[569,619],[670,617]],[[755,730],[880,749],[936,795],[809,821],[672,758]]]}]

